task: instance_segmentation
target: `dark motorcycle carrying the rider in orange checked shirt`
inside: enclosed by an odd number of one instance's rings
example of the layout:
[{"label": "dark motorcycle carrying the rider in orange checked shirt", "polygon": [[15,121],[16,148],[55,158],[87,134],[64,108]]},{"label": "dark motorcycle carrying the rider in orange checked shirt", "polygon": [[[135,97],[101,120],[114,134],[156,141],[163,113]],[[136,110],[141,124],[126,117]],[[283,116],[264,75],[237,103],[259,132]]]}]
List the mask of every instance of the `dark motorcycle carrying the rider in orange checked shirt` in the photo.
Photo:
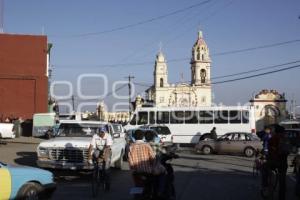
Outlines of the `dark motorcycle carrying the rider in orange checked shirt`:
[{"label": "dark motorcycle carrying the rider in orange checked shirt", "polygon": [[[168,151],[160,156],[160,163],[166,173],[164,177],[149,174],[133,174],[138,179],[139,187],[131,188],[135,200],[175,200],[176,191],[174,186],[174,169],[168,161],[177,159],[179,156],[174,151]],[[163,181],[161,180],[163,179]],[[158,195],[159,185],[163,182],[163,192]]]}]

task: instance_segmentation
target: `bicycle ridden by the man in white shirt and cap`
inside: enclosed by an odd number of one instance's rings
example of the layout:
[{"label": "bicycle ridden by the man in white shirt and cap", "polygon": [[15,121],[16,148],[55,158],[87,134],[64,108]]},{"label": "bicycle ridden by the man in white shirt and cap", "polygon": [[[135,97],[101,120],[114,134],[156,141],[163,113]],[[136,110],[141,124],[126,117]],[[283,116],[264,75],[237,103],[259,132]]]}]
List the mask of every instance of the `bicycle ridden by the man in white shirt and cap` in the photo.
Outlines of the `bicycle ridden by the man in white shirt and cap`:
[{"label": "bicycle ridden by the man in white shirt and cap", "polygon": [[103,167],[105,166],[105,162],[103,159],[99,162],[98,159],[93,159],[93,174],[92,174],[92,194],[93,197],[97,197],[99,193],[100,187],[103,191],[109,190],[109,182],[106,178],[106,173]]}]

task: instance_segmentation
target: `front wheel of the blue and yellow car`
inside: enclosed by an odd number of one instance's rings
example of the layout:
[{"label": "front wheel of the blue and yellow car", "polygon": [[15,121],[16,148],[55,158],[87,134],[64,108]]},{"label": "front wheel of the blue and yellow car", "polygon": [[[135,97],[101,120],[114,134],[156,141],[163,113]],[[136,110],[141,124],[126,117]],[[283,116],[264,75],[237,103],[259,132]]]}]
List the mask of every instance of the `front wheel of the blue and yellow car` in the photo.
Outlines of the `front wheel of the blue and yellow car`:
[{"label": "front wheel of the blue and yellow car", "polygon": [[38,183],[26,183],[19,190],[16,199],[41,199],[41,191],[42,187]]}]

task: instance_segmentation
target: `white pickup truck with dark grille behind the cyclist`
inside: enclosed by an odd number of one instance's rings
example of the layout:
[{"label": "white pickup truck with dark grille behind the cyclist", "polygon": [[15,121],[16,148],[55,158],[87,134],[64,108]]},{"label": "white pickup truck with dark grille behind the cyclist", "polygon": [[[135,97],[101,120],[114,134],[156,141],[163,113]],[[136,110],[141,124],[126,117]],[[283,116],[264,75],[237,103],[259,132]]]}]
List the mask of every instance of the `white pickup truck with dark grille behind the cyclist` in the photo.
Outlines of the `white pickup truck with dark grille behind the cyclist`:
[{"label": "white pickup truck with dark grille behind the cyclist", "polygon": [[119,124],[99,121],[60,121],[55,138],[37,147],[37,165],[42,168],[82,170],[93,169],[87,162],[92,136],[105,126],[113,138],[111,165],[122,168],[125,153],[125,133]]}]

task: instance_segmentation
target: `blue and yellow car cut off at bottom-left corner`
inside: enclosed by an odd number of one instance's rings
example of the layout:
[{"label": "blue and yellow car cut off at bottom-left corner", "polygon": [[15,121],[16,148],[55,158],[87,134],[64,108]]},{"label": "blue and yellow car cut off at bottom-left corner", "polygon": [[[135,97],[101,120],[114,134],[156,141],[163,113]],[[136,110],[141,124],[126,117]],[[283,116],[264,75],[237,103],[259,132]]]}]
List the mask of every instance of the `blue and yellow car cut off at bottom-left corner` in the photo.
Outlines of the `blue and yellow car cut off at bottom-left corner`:
[{"label": "blue and yellow car cut off at bottom-left corner", "polygon": [[0,199],[50,198],[56,184],[49,171],[0,162]]}]

